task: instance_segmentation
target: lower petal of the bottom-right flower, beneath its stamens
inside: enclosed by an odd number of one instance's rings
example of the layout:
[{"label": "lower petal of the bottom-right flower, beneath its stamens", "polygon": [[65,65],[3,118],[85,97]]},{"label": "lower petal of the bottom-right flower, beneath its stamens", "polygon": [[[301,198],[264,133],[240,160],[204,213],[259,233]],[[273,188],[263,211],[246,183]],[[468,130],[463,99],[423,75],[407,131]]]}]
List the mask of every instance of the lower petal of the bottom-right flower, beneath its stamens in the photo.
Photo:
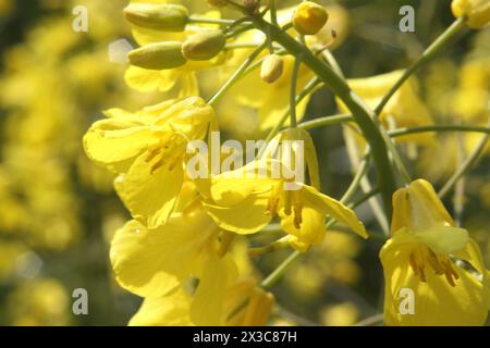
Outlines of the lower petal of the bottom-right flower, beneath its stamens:
[{"label": "lower petal of the bottom-right flower, beneath its stamens", "polygon": [[[406,240],[405,240],[406,241]],[[460,279],[452,287],[443,275],[426,271],[421,282],[409,266],[411,245],[387,241],[380,253],[385,278],[384,323],[387,325],[482,325],[488,299],[481,282],[458,269]],[[414,314],[402,314],[402,289],[414,291]]]}]

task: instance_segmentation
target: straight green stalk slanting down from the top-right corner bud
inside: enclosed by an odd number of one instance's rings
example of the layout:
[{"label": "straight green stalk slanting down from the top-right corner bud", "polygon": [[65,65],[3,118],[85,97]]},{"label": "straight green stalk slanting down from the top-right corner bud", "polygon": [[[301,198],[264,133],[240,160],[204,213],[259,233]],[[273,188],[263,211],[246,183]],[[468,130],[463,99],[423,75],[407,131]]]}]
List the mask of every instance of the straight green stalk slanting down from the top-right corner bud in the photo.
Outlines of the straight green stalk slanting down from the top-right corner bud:
[{"label": "straight green stalk slanting down from the top-right corner bud", "polygon": [[454,21],[454,23],[424,51],[420,58],[411,66],[408,66],[407,70],[405,70],[400,79],[393,85],[390,91],[383,97],[381,102],[376,108],[375,113],[377,116],[381,114],[383,108],[387,105],[396,90],[399,90],[399,88],[402,87],[402,85],[408,79],[408,77],[411,77],[426,63],[428,63],[432,58],[434,58],[448,45],[448,42],[450,42],[451,39],[456,36],[456,34],[463,30],[463,28],[465,28],[465,20],[463,17]]}]

